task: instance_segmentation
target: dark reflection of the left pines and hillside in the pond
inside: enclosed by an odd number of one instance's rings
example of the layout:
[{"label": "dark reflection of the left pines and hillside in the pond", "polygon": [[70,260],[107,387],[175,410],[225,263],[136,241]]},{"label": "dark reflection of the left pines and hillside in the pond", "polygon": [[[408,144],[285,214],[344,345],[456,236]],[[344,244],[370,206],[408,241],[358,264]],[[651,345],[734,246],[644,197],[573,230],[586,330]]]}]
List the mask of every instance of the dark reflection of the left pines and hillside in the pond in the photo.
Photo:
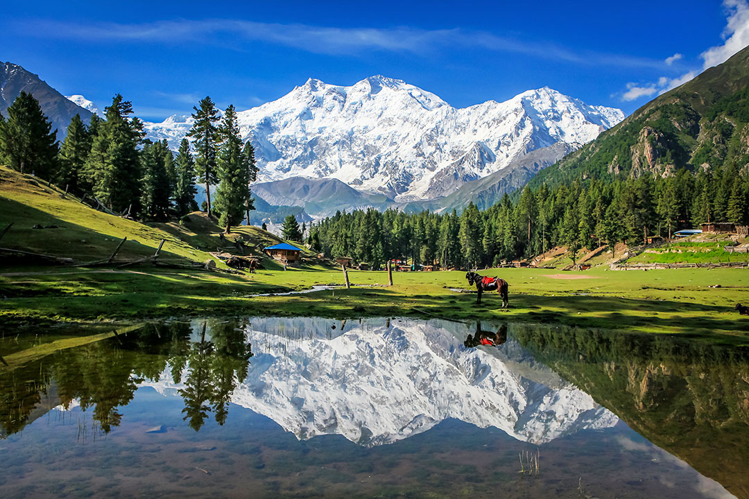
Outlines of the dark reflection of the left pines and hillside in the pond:
[{"label": "dark reflection of the left pines and hillside in the pond", "polygon": [[[196,431],[209,411],[225,423],[228,402],[246,378],[252,346],[244,323],[207,321],[198,340],[187,322],[144,325],[77,348],[58,350],[19,367],[0,367],[0,437],[19,432],[57,405],[79,400],[108,433],[121,423],[138,385],[155,382],[169,367],[175,382],[184,378],[185,420]],[[207,329],[207,327],[210,328]]]}]

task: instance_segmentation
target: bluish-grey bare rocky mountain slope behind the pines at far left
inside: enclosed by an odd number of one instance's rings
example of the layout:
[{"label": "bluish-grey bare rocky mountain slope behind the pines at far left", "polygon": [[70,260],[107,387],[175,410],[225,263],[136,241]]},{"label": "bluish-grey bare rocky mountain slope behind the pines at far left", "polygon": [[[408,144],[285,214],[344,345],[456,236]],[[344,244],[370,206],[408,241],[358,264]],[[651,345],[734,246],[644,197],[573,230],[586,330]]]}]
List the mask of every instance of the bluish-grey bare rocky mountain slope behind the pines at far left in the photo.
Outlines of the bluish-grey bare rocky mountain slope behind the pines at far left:
[{"label": "bluish-grey bare rocky mountain slope behind the pines at far left", "polygon": [[30,93],[39,101],[42,111],[52,122],[52,130],[57,129],[58,141],[65,138],[70,119],[76,114],[80,114],[85,122],[91,120],[91,111],[68,100],[39,76],[18,64],[0,63],[0,114],[7,117],[8,106],[13,104],[21,91]]}]

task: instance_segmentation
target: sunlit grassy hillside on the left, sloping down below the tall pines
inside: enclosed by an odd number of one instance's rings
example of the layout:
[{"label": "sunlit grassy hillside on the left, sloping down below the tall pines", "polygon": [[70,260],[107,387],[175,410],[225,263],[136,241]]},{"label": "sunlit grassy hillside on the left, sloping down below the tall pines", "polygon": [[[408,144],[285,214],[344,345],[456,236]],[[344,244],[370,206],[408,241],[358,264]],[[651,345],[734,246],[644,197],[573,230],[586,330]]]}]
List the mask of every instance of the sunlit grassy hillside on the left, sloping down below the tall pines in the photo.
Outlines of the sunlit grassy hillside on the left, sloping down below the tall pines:
[{"label": "sunlit grassy hillside on the left, sloping down below the tall pines", "polygon": [[[152,255],[164,239],[161,260],[204,263],[215,260],[209,251],[241,254],[234,245],[241,242],[248,256],[263,259],[267,268],[280,268],[262,251],[283,240],[259,227],[234,227],[222,239],[222,227],[202,212],[190,213],[181,221],[142,224],[100,212],[43,180],[0,166],[0,230],[10,223],[13,227],[0,240],[0,247],[72,258],[76,263],[108,258],[127,237],[116,260]],[[314,256],[300,247],[306,257]],[[14,257],[13,263],[22,260]]]}]

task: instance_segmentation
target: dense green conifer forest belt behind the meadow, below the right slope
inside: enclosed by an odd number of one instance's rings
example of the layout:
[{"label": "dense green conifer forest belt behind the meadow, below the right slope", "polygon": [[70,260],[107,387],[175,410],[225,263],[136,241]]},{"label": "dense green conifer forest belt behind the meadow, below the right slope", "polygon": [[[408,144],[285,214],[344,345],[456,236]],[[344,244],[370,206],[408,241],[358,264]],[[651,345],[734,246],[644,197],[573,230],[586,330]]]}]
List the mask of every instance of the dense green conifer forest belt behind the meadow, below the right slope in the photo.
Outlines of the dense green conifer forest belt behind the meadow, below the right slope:
[{"label": "dense green conifer forest belt behind the meadow, below the right slope", "polygon": [[571,251],[641,245],[707,221],[747,222],[749,179],[736,168],[680,170],[670,177],[575,180],[550,188],[526,187],[485,211],[469,203],[461,214],[395,209],[336,213],[309,228],[306,242],[331,257],[375,266],[388,258],[444,267],[483,267],[528,258],[554,246]]}]

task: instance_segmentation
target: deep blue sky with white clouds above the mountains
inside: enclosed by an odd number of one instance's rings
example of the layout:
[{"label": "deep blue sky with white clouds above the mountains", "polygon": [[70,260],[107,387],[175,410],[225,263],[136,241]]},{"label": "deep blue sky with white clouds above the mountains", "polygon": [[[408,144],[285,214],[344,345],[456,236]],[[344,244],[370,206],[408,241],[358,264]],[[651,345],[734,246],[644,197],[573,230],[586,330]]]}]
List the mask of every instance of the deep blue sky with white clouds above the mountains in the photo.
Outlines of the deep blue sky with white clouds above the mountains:
[{"label": "deep blue sky with white clouds above the mountains", "polygon": [[[127,7],[124,5],[127,4]],[[626,114],[749,44],[747,0],[10,1],[0,61],[103,108],[185,114],[309,77],[403,79],[456,107],[549,86]]]}]

